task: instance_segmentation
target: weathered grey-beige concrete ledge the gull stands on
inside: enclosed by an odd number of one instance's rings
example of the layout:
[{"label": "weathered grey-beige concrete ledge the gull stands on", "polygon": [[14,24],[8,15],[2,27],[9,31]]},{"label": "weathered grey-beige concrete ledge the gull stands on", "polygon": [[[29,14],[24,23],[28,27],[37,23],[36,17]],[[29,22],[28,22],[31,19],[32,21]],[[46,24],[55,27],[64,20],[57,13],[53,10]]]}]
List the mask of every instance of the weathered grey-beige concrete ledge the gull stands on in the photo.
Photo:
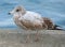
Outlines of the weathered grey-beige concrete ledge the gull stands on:
[{"label": "weathered grey-beige concrete ledge the gull stands on", "polygon": [[[26,35],[30,42],[25,43]],[[65,31],[39,31],[39,41],[35,42],[36,31],[0,30],[0,47],[65,47]]]}]

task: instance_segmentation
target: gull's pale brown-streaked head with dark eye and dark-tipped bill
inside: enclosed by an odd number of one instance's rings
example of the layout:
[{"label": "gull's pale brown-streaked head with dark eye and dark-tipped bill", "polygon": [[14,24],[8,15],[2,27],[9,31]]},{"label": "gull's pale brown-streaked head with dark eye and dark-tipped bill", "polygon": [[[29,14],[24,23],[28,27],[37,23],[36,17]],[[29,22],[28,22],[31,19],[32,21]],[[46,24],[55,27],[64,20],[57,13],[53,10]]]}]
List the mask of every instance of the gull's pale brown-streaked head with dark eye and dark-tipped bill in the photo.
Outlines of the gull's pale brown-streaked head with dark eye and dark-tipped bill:
[{"label": "gull's pale brown-streaked head with dark eye and dark-tipped bill", "polygon": [[16,6],[11,12],[9,12],[11,15],[24,15],[26,11],[23,6]]}]

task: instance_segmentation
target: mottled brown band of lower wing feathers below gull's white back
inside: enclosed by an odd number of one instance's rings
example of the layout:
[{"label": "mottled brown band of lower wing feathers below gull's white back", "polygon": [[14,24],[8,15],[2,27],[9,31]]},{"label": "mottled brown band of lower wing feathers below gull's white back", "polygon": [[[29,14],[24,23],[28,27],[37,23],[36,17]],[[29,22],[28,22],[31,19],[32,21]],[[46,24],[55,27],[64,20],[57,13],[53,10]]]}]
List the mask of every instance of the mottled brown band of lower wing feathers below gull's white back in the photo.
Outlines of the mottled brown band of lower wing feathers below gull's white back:
[{"label": "mottled brown band of lower wing feathers below gull's white back", "polygon": [[22,22],[22,25],[24,26],[24,27],[26,27],[27,29],[30,29],[30,30],[41,30],[41,29],[47,29],[47,26],[46,26],[46,24],[37,24],[37,22],[35,22],[35,24],[31,24],[30,21],[23,21],[23,20],[21,20],[21,22]]}]

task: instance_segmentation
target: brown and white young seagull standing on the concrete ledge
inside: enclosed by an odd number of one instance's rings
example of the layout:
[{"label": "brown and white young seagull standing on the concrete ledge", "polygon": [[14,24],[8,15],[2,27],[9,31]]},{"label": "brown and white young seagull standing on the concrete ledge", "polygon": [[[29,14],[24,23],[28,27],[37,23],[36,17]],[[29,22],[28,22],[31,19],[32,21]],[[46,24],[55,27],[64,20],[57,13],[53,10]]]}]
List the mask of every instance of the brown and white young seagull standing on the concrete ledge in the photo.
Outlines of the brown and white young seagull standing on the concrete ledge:
[{"label": "brown and white young seagull standing on the concrete ledge", "polygon": [[[20,28],[24,30],[35,30],[36,41],[38,41],[38,31],[39,30],[49,30],[54,29],[54,24],[51,19],[42,17],[39,13],[26,11],[23,6],[15,6],[14,10],[9,12],[13,16],[13,20]],[[26,42],[29,41],[29,35],[27,35]]]}]

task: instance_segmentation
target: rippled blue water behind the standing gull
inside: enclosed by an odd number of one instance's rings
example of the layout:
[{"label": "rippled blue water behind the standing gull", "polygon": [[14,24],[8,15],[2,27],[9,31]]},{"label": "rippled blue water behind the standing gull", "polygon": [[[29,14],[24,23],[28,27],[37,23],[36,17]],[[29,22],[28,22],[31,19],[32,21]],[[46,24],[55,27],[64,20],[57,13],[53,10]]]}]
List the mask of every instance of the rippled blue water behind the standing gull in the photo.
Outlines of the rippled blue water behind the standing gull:
[{"label": "rippled blue water behind the standing gull", "polygon": [[16,5],[40,13],[65,29],[65,0],[0,0],[0,28],[16,28],[8,13]]}]

